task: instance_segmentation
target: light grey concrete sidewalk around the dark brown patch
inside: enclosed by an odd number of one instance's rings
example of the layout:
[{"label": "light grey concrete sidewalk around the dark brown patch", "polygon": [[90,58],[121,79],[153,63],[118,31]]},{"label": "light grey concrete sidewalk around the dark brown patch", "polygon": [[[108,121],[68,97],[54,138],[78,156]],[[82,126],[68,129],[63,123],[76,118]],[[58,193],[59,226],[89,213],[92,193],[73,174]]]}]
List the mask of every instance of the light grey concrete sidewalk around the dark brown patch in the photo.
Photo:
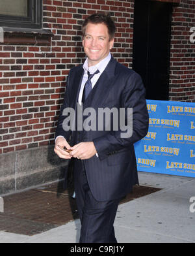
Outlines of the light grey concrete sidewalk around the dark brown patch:
[{"label": "light grey concrete sidewalk around the dark brown patch", "polygon": [[[140,185],[161,190],[120,204],[114,222],[122,243],[194,243],[195,178],[138,173]],[[194,206],[195,208],[195,206]],[[33,236],[0,231],[0,243],[75,243],[79,241],[78,219]]]}]

